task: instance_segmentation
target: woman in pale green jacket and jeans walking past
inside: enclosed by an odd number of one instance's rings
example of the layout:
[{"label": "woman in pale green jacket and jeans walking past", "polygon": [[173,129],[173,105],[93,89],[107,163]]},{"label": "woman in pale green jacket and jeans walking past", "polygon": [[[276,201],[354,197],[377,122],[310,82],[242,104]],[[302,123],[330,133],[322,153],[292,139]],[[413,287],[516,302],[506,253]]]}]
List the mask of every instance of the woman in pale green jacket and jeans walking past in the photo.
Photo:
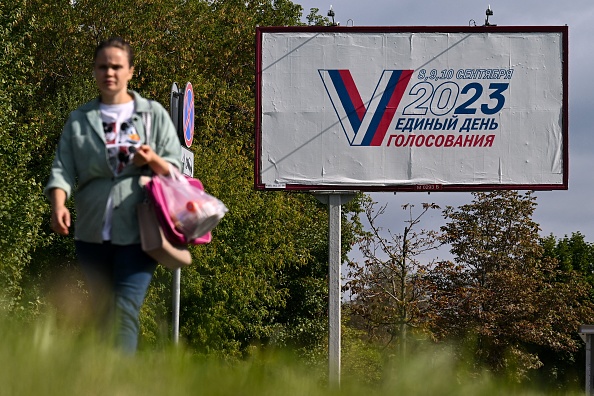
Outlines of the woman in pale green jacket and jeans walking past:
[{"label": "woman in pale green jacket and jeans walking past", "polygon": [[[167,111],[128,90],[134,55],[121,38],[99,44],[93,75],[99,97],[70,114],[58,143],[45,194],[52,230],[68,235],[72,194],[74,240],[97,324],[116,345],[134,352],[139,312],[157,263],[142,251],[136,205],[142,174],[180,167],[181,146]],[[142,113],[150,112],[150,142]]]}]

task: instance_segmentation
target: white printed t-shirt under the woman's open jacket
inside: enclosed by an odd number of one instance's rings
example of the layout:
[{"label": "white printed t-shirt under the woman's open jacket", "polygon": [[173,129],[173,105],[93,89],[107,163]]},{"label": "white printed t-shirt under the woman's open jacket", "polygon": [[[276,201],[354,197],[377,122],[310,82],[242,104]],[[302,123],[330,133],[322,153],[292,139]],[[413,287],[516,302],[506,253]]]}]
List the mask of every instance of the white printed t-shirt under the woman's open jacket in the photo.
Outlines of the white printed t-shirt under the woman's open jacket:
[{"label": "white printed t-shirt under the woman's open jacket", "polygon": [[[101,121],[105,133],[105,146],[111,170],[118,175],[124,167],[132,163],[134,152],[142,143],[134,124],[134,101],[122,104],[99,105]],[[105,208],[105,221],[103,222],[103,240],[111,240],[111,218],[113,216],[113,200],[111,194]]]}]

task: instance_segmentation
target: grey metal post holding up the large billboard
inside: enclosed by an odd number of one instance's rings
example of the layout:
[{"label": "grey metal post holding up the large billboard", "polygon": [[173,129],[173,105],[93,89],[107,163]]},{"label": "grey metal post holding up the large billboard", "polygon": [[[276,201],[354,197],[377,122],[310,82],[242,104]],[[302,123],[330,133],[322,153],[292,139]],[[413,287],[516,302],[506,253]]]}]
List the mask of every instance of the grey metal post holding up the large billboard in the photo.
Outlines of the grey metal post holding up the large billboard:
[{"label": "grey metal post holding up the large billboard", "polygon": [[340,385],[340,305],[341,305],[341,210],[354,193],[316,193],[318,201],[328,205],[328,380]]}]

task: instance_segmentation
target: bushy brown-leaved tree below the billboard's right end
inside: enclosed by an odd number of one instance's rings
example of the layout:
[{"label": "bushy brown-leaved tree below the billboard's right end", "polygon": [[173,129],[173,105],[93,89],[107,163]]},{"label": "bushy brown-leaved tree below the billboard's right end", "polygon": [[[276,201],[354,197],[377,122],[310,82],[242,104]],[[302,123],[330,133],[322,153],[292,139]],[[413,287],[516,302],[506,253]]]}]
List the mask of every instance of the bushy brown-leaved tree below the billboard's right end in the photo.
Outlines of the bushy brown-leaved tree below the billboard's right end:
[{"label": "bushy brown-leaved tree below the billboard's right end", "polygon": [[574,273],[559,282],[556,260],[543,257],[531,192],[473,196],[444,211],[454,262],[427,271],[428,324],[438,340],[472,343],[477,366],[520,380],[543,366],[543,351],[578,350],[572,334],[593,312],[590,288]]}]

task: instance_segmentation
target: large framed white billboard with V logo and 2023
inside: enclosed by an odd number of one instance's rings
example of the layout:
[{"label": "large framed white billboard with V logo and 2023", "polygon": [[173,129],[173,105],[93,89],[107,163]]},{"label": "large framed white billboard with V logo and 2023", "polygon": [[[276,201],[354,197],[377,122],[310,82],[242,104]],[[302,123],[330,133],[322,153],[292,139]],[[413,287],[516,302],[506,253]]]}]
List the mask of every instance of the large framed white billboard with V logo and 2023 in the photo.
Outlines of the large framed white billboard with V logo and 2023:
[{"label": "large framed white billboard with V logo and 2023", "polygon": [[567,32],[259,27],[255,187],[567,189]]}]

